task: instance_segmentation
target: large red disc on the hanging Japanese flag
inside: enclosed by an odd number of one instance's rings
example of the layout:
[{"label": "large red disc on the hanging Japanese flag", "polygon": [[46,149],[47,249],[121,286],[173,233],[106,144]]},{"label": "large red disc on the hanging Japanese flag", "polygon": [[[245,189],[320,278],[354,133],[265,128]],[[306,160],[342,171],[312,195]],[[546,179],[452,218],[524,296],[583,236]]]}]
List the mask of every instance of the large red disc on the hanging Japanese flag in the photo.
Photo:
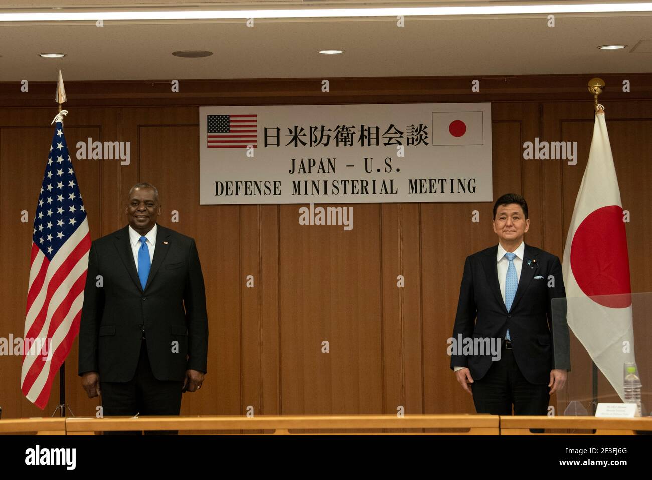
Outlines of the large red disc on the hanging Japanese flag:
[{"label": "large red disc on the hanging Japanese flag", "polygon": [[582,292],[599,305],[632,305],[622,207],[601,207],[584,218],[573,235],[571,269]]}]

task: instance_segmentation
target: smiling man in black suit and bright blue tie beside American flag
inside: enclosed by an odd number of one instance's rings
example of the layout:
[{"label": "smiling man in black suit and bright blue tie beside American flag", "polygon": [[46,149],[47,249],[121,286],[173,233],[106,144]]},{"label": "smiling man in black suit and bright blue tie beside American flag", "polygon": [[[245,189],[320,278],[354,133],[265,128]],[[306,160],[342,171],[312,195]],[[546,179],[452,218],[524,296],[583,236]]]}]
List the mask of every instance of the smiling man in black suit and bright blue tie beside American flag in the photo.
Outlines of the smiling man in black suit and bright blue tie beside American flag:
[{"label": "smiling man in black suit and bright blue tie beside American flag", "polygon": [[[104,415],[179,415],[181,393],[201,388],[208,321],[194,239],[156,224],[158,190],[137,183],[129,224],[89,252],[79,374]],[[101,393],[100,393],[101,389]]]}]

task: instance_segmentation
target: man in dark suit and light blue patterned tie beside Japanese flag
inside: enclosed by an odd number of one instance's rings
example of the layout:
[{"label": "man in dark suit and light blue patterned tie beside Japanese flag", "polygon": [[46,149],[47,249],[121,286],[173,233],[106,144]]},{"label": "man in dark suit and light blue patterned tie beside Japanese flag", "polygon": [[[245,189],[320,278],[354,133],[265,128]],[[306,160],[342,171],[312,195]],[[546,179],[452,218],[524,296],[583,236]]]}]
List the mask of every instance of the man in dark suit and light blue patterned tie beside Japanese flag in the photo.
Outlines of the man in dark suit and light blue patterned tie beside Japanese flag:
[{"label": "man in dark suit and light blue patterned tie beside Japanese flag", "polygon": [[522,196],[498,198],[492,224],[498,245],[466,258],[453,338],[489,339],[500,352],[465,355],[458,348],[451,368],[477,413],[511,415],[513,404],[515,415],[546,415],[571,369],[565,300],[552,301],[566,297],[561,263],[524,243]]}]

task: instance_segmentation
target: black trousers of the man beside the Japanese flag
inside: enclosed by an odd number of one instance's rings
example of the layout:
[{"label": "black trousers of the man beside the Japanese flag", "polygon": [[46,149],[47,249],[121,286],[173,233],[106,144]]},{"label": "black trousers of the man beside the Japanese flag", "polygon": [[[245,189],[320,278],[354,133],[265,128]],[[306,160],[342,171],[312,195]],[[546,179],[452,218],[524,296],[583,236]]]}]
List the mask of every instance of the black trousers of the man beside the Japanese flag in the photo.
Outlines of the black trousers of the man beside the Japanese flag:
[{"label": "black trousers of the man beside the Japanese flag", "polygon": [[547,415],[550,387],[527,382],[512,352],[503,344],[500,360],[492,362],[481,380],[471,383],[475,411],[511,415],[513,404],[514,415]]}]

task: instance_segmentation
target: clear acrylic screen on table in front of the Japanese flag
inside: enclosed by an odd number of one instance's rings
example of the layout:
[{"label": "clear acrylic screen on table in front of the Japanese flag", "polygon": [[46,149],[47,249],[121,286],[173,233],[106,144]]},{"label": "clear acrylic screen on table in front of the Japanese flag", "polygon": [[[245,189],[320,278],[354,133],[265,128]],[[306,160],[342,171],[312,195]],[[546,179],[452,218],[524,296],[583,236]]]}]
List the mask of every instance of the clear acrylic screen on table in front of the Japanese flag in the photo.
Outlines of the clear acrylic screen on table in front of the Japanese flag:
[{"label": "clear acrylic screen on table in front of the Japanese flag", "polygon": [[555,415],[594,415],[598,403],[624,402],[623,365],[632,361],[642,383],[642,416],[650,415],[652,293],[553,299],[552,317],[560,316],[567,318],[570,341],[553,331],[553,354],[568,348],[571,371],[556,393]]}]

